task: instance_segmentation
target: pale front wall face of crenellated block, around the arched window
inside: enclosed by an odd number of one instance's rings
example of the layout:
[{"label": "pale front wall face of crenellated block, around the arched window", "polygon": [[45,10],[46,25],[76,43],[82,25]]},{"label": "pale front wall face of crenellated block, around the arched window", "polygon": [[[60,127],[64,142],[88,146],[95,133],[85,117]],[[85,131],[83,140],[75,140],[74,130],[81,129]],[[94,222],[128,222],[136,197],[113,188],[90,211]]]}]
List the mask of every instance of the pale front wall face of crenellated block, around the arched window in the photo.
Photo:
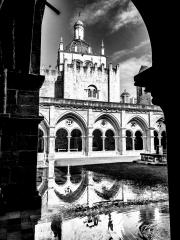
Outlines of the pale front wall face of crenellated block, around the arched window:
[{"label": "pale front wall face of crenellated block, around the arched window", "polygon": [[94,85],[99,91],[99,97],[91,98],[96,101],[108,101],[108,72],[103,65],[95,64],[76,68],[76,63],[64,63],[64,98],[88,100],[88,86]]}]

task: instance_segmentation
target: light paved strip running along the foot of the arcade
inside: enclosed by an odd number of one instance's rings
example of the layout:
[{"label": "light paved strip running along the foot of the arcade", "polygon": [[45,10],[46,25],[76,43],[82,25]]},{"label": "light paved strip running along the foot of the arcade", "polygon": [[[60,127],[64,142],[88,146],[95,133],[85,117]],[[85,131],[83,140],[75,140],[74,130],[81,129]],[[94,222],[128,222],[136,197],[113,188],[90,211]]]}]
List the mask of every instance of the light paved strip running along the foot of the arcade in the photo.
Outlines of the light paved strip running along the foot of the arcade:
[{"label": "light paved strip running along the foot of the arcade", "polygon": [[60,158],[55,160],[55,166],[79,166],[90,164],[104,164],[116,162],[133,162],[139,160],[140,156],[114,156],[114,157],[75,157],[75,158]]}]

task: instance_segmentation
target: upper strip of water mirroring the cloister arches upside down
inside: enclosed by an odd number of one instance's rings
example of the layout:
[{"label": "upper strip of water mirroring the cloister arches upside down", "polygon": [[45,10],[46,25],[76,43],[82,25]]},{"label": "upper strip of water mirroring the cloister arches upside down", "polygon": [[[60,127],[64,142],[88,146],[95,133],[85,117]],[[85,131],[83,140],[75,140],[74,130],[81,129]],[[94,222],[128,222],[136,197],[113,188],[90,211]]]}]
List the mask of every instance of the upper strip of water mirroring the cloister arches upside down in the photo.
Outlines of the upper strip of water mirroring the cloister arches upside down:
[{"label": "upper strip of water mirroring the cloister arches upside down", "polygon": [[42,205],[51,207],[92,207],[101,202],[158,199],[166,193],[155,188],[138,188],[133,183],[112,179],[99,173],[85,171],[76,167],[55,168],[55,177],[42,177],[38,186]]}]

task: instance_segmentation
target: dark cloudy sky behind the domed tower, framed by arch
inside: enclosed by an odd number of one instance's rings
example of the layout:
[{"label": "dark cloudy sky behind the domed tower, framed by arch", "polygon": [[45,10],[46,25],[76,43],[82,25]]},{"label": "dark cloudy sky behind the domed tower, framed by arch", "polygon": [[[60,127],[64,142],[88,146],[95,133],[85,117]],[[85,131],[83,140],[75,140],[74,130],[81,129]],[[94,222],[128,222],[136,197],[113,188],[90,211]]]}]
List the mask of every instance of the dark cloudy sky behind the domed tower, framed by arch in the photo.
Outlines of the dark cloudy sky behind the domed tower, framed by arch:
[{"label": "dark cloudy sky behind the domed tower, framed by arch", "polygon": [[41,65],[55,68],[60,37],[66,46],[79,18],[85,24],[85,41],[95,53],[102,40],[108,62],[120,64],[121,92],[136,97],[133,76],[141,65],[151,66],[151,44],[146,26],[129,0],[48,0],[61,11],[46,6],[42,23]]}]

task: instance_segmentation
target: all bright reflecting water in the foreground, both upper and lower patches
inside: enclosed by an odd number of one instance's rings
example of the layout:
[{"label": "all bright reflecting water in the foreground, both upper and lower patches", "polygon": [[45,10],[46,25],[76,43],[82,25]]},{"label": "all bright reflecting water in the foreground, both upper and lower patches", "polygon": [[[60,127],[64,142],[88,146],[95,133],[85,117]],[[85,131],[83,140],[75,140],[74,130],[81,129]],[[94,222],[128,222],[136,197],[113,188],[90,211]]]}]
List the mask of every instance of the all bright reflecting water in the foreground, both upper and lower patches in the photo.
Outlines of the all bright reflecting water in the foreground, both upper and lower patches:
[{"label": "all bright reflecting water in the foreground, both upper and lower patches", "polygon": [[[140,188],[69,166],[56,168],[54,179],[47,179],[44,174],[38,189],[42,214],[35,228],[35,240],[133,240],[141,239],[140,224],[160,221],[163,232],[164,225],[166,229],[169,226],[168,211],[164,218],[157,203],[142,205],[148,199],[167,199],[167,192],[162,189]],[[165,207],[168,209],[167,204]],[[163,234],[169,236],[169,231]]]}]

